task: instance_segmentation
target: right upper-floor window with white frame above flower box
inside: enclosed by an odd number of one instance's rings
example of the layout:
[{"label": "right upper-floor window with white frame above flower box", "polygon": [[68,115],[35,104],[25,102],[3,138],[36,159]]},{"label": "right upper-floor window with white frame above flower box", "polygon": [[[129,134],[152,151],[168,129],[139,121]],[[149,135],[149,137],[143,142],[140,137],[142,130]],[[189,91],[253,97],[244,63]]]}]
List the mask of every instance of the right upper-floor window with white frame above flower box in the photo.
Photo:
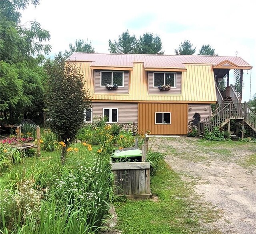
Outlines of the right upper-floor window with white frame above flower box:
[{"label": "right upper-floor window with white frame above flower box", "polygon": [[154,72],[154,88],[157,88],[159,85],[170,85],[176,88],[176,73]]}]

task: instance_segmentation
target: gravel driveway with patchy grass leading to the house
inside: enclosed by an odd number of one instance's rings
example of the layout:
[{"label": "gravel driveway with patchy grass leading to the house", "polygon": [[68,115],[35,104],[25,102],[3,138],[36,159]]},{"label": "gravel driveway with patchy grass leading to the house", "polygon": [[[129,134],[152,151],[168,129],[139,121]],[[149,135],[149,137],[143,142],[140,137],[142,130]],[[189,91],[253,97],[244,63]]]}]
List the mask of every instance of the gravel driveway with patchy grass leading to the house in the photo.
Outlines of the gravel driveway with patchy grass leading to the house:
[{"label": "gravel driveway with patchy grass leading to the house", "polygon": [[256,234],[256,167],[246,165],[256,154],[255,143],[187,137],[153,142],[155,150],[167,153],[170,167],[194,185],[196,194],[220,210],[212,227],[225,234]]}]

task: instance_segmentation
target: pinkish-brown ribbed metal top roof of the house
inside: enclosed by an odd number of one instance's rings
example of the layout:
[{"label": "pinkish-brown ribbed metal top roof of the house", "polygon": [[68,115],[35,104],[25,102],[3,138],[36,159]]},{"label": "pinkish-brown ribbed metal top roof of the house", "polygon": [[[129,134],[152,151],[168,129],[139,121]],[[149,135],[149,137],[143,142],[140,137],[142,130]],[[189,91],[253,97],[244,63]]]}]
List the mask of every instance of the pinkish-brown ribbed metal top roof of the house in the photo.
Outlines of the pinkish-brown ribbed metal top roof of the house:
[{"label": "pinkish-brown ribbed metal top roof of the house", "polygon": [[133,62],[143,62],[145,68],[186,68],[185,64],[212,64],[228,60],[238,67],[251,65],[241,57],[203,56],[203,55],[137,55],[137,54],[100,54],[73,53],[69,61],[92,62],[91,66],[99,67],[133,67]]}]

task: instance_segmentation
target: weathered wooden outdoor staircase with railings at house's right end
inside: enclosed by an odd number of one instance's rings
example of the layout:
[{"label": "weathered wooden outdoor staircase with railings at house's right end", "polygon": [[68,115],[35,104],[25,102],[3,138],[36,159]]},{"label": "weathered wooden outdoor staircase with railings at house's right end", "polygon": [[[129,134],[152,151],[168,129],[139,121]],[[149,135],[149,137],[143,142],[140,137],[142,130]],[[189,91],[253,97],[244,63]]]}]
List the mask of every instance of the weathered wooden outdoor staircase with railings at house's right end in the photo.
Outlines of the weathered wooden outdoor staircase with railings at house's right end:
[{"label": "weathered wooden outdoor staircase with railings at house's right end", "polygon": [[230,97],[224,97],[223,101],[224,106],[219,106],[210,116],[199,122],[199,136],[203,137],[206,129],[211,132],[215,127],[223,127],[230,119],[244,120],[256,132],[256,113],[246,103],[234,103]]}]

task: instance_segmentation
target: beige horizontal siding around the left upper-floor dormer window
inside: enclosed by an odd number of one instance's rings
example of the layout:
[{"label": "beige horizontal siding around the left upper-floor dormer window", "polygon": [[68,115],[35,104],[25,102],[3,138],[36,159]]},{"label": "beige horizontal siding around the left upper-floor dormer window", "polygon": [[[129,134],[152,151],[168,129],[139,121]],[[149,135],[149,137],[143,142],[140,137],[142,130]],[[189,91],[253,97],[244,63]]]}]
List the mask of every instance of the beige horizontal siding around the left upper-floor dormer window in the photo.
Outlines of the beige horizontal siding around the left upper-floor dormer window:
[{"label": "beige horizontal siding around the left upper-floor dormer window", "polygon": [[108,90],[106,87],[100,86],[100,71],[94,71],[94,93],[129,93],[129,72],[124,71],[124,87]]}]

